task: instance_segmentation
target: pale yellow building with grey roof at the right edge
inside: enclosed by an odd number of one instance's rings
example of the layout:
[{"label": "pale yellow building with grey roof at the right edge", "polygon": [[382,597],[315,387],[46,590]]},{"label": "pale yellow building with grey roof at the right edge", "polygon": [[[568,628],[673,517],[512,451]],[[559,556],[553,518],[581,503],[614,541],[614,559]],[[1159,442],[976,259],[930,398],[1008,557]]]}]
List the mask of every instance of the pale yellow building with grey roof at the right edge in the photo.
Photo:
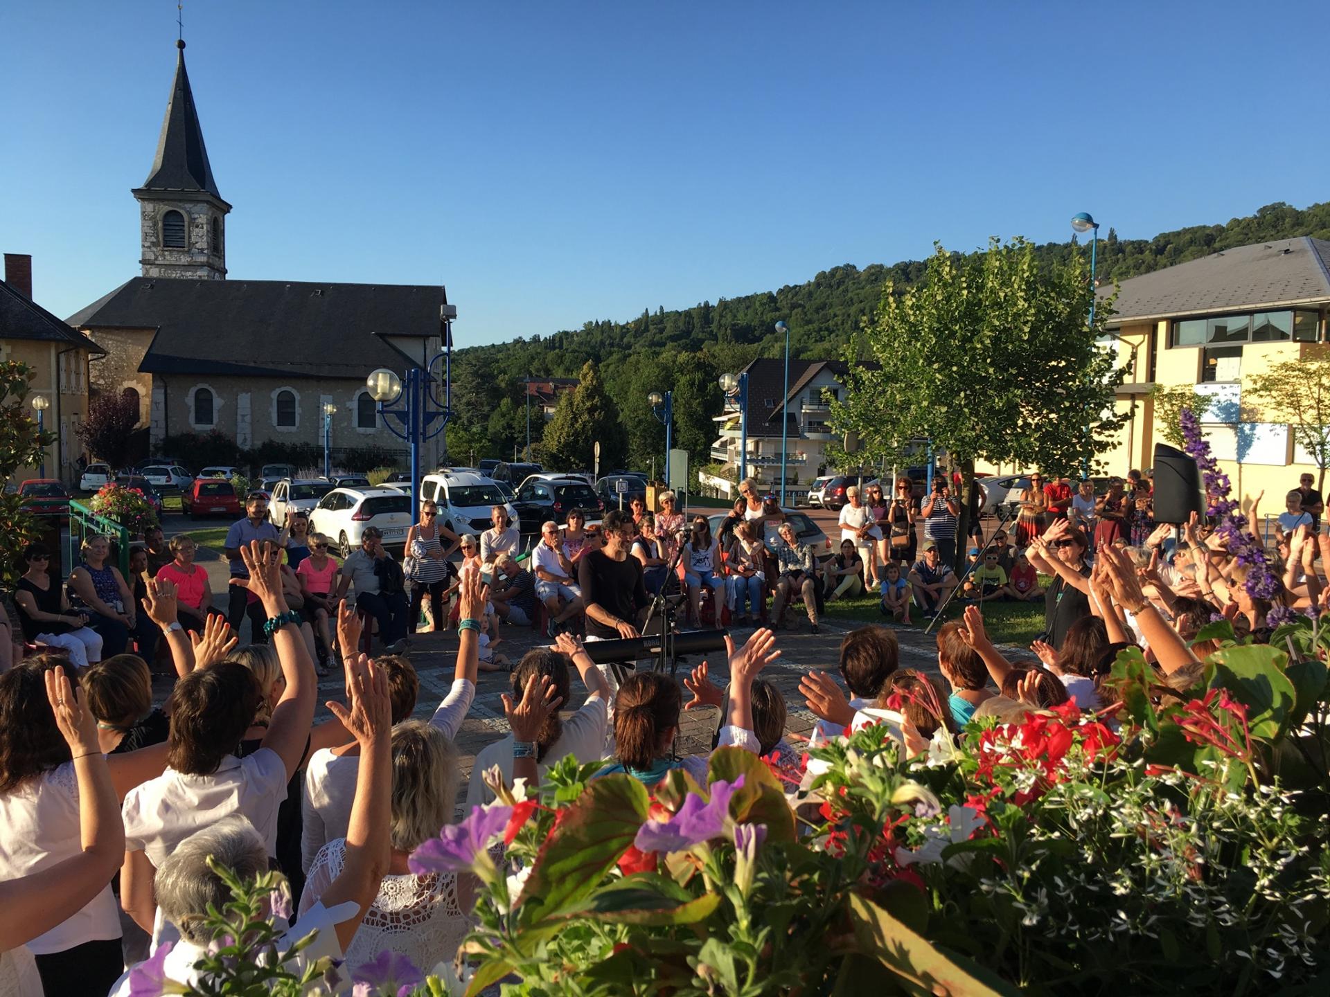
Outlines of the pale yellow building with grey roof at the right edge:
[{"label": "pale yellow building with grey roof at the right edge", "polygon": [[1242,391],[1253,375],[1326,340],[1330,242],[1262,242],[1133,277],[1113,307],[1108,326],[1129,364],[1116,409],[1129,419],[1105,455],[1108,473],[1149,467],[1154,444],[1165,441],[1150,389],[1194,384],[1213,396],[1205,435],[1244,508],[1264,491],[1261,512],[1277,514],[1301,473],[1319,480],[1286,424],[1252,421],[1260,413],[1244,407]]}]

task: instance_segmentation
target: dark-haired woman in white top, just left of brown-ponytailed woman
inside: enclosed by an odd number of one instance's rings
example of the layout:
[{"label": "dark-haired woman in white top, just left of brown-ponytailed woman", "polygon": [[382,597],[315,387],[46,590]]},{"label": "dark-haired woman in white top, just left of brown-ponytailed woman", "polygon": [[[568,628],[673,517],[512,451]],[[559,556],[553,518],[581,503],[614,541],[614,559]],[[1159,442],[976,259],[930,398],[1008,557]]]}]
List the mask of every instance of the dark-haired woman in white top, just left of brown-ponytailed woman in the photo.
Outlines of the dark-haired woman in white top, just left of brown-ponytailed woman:
[{"label": "dark-haired woman in white top, just left of brown-ponytailed woman", "polygon": [[[604,754],[605,731],[609,726],[610,690],[605,675],[576,637],[559,634],[556,646],[559,650],[536,647],[527,651],[512,670],[512,695],[519,703],[532,675],[548,675],[559,698],[567,703],[571,691],[569,659],[577,666],[589,693],[587,702],[572,717],[563,719],[555,713],[545,720],[536,738],[536,763],[540,772],[568,755],[581,764],[595,762]],[[513,736],[509,734],[493,744],[487,744],[476,755],[476,762],[471,767],[471,784],[467,786],[467,804],[463,808],[467,814],[473,807],[481,807],[493,799],[493,791],[481,778],[484,772],[497,767],[503,772],[504,782],[512,783],[512,746]]]}]

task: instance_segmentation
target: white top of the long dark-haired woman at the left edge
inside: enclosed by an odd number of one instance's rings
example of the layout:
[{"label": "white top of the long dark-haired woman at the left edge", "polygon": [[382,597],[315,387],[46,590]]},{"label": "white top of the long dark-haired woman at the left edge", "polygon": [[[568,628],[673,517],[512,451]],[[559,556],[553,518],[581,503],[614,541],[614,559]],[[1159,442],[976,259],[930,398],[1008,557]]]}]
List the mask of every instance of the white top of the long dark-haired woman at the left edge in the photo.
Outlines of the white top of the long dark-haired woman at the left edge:
[{"label": "white top of the long dark-haired woman at the left edge", "polygon": [[[0,880],[49,869],[82,852],[74,763],[51,768],[0,795]],[[110,883],[86,907],[28,942],[37,956],[85,941],[120,937],[120,908]]]}]

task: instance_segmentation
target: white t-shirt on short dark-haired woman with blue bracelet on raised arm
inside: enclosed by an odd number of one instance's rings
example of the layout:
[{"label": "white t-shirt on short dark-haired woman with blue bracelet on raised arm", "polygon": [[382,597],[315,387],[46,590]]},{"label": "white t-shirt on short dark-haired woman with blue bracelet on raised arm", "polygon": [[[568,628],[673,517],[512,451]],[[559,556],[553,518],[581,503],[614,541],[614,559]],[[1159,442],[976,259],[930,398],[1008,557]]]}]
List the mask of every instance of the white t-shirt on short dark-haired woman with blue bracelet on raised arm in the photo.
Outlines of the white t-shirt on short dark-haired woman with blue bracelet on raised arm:
[{"label": "white t-shirt on short dark-haired woman with blue bracelet on raised arm", "polygon": [[168,768],[125,795],[125,851],[145,852],[156,867],[176,845],[222,818],[247,818],[277,855],[277,808],[286,799],[286,766],[273,748],[247,758],[227,755],[211,775]]}]

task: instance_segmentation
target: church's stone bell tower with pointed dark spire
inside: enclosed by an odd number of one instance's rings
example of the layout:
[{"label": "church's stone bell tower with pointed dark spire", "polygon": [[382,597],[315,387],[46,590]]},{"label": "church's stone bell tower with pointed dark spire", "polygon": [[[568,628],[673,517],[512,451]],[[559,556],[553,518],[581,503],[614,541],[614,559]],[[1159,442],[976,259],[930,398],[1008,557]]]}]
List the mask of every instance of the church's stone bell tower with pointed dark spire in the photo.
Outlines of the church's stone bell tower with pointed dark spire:
[{"label": "church's stone bell tower with pointed dark spire", "polygon": [[176,43],[176,81],[144,186],[133,191],[142,225],[144,277],[221,280],[226,277],[225,218],[231,206],[213,179],[185,70],[185,41]]}]

